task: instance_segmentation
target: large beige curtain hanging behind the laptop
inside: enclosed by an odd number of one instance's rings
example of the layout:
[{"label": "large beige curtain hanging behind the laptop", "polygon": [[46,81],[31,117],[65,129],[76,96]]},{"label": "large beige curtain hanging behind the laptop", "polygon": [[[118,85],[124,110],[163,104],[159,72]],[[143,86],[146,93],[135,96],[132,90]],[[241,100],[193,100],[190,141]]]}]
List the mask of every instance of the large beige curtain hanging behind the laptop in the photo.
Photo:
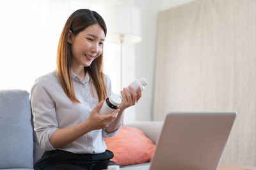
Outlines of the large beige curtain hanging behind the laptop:
[{"label": "large beige curtain hanging behind the laptop", "polygon": [[255,0],[200,0],[159,13],[154,120],[237,111],[222,162],[256,166],[255,41]]}]

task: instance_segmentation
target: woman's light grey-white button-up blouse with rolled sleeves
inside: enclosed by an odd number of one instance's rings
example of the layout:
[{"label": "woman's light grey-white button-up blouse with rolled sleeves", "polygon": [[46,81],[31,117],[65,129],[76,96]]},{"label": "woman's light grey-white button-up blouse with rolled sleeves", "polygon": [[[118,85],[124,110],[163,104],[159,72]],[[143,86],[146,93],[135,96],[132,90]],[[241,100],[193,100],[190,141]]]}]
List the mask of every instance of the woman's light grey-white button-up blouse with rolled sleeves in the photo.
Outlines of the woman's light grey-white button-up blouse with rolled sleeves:
[{"label": "woman's light grey-white button-up blouse with rolled sleeves", "polygon": [[[35,81],[31,89],[31,108],[35,132],[40,147],[47,150],[55,150],[49,139],[56,129],[63,129],[80,124],[86,120],[93,108],[99,103],[96,89],[88,73],[84,81],[72,72],[72,80],[77,99],[81,103],[72,103],[61,87],[56,71],[41,76]],[[112,94],[111,81],[105,74],[105,83],[108,96]],[[93,92],[91,89],[93,87]],[[58,148],[73,153],[102,153],[106,150],[106,144],[102,137],[114,136],[115,132],[108,134],[104,129],[90,131],[76,141]]]}]

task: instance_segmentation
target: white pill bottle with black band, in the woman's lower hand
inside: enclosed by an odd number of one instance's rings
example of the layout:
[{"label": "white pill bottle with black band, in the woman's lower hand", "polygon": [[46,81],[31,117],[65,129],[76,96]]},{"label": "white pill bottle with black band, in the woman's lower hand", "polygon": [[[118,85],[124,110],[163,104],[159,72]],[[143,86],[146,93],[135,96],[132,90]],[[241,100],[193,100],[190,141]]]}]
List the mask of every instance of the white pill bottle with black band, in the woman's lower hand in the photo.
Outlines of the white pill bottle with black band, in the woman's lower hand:
[{"label": "white pill bottle with black band, in the woman's lower hand", "polygon": [[108,113],[112,113],[113,111],[118,109],[119,104],[122,102],[122,99],[120,96],[116,94],[111,94],[104,103],[102,104],[102,107],[100,108],[100,115],[106,115]]}]

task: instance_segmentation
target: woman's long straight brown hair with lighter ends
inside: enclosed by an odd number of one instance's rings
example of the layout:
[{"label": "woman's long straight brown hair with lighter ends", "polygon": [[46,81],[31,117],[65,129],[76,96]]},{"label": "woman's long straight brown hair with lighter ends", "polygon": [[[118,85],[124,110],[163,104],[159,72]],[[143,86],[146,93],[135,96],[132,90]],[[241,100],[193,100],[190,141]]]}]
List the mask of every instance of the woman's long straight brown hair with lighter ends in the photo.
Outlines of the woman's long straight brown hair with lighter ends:
[{"label": "woman's long straight brown hair with lighter ends", "polygon": [[[57,52],[57,73],[65,94],[73,103],[80,102],[76,98],[70,70],[72,55],[71,46],[68,43],[68,31],[72,31],[74,36],[76,36],[79,32],[86,29],[86,27],[93,24],[99,24],[106,36],[107,28],[103,18],[100,17],[97,12],[88,9],[81,9],[72,13],[61,32]],[[89,73],[90,80],[92,80],[95,85],[99,101],[102,101],[102,99],[105,99],[107,96],[102,60],[103,52],[99,57],[93,60],[90,67],[84,67],[85,73]]]}]

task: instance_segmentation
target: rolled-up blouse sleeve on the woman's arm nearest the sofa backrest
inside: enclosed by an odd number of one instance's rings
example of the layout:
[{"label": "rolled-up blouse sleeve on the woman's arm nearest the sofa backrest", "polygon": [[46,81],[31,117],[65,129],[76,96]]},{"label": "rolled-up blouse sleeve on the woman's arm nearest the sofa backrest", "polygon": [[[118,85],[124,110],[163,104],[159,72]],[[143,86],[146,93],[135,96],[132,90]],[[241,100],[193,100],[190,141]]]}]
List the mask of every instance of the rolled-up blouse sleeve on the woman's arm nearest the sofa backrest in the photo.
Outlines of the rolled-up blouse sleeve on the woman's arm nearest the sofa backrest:
[{"label": "rolled-up blouse sleeve on the woman's arm nearest the sofa backrest", "polygon": [[47,83],[38,78],[31,89],[31,109],[35,132],[40,147],[45,150],[55,150],[49,139],[56,129],[58,123],[56,120],[55,103],[48,92]]}]

